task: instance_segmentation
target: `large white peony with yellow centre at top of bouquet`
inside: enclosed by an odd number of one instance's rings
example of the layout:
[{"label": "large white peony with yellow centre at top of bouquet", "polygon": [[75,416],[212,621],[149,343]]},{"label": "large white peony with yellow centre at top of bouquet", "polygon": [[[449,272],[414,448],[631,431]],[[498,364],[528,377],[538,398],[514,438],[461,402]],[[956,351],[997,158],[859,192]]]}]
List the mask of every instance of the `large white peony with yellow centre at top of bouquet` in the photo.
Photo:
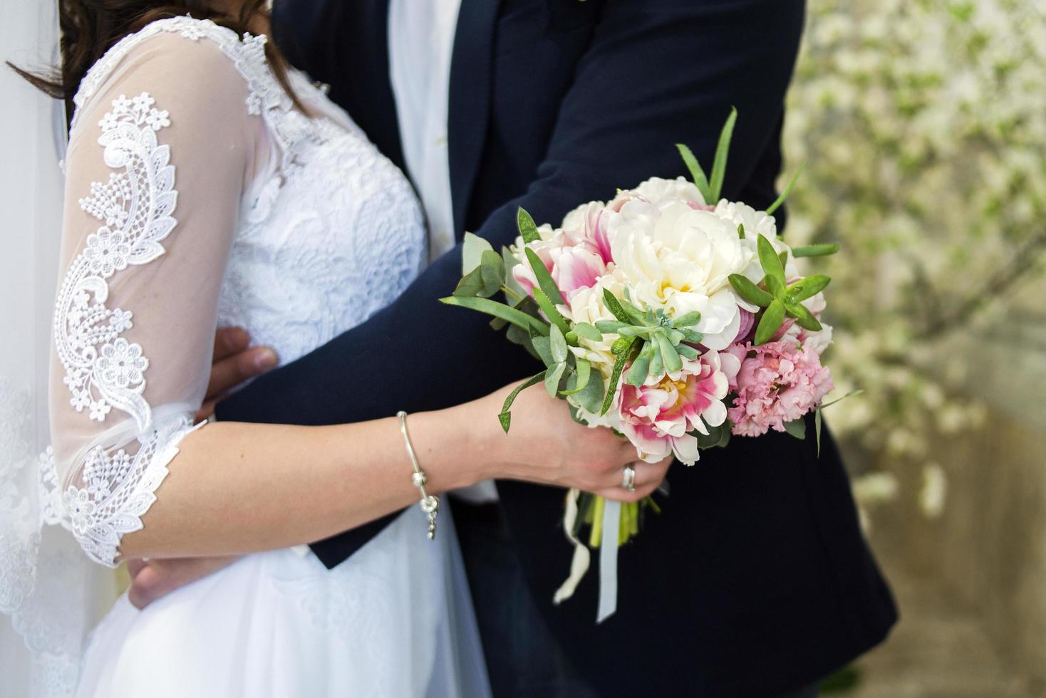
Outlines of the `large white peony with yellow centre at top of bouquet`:
[{"label": "large white peony with yellow centre at top of bouquet", "polygon": [[676,317],[701,312],[697,330],[709,349],[734,340],[741,315],[729,277],[754,257],[735,226],[684,202],[659,207],[634,200],[611,219],[610,230],[614,261],[634,302]]}]

